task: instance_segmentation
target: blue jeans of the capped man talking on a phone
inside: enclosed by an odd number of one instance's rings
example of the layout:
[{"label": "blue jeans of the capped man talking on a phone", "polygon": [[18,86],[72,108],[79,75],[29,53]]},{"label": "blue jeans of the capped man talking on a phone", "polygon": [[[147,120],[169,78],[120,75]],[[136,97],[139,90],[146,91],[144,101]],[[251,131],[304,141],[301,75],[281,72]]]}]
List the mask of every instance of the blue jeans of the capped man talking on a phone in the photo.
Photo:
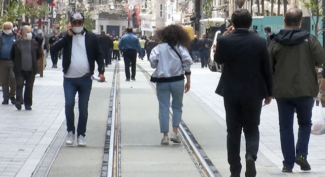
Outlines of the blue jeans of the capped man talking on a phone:
[{"label": "blue jeans of the capped man talking on a phone", "polygon": [[77,137],[82,135],[85,137],[87,119],[88,119],[88,101],[90,91],[92,89],[93,81],[90,76],[81,78],[64,78],[63,87],[65,91],[65,118],[67,131],[72,131],[75,134],[74,127],[74,99],[78,91],[78,108],[79,108],[79,120],[77,127]]}]

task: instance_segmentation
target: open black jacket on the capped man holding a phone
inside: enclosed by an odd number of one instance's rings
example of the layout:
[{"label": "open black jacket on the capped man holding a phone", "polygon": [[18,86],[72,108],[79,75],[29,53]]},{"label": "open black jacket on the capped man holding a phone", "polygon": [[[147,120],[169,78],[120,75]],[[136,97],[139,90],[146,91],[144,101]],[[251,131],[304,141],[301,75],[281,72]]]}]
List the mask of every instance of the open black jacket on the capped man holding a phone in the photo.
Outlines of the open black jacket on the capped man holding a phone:
[{"label": "open black jacket on the capped man holding a phone", "polygon": [[[88,62],[90,65],[90,72],[94,74],[95,70],[95,61],[98,65],[98,72],[103,74],[105,71],[105,64],[102,52],[100,50],[99,39],[93,32],[85,30],[85,43],[86,43],[86,52],[88,57]],[[61,39],[53,44],[51,47],[51,53],[58,53],[61,49],[63,50],[63,73],[66,74],[70,63],[71,63],[71,48],[72,48],[72,36],[65,34]]]}]

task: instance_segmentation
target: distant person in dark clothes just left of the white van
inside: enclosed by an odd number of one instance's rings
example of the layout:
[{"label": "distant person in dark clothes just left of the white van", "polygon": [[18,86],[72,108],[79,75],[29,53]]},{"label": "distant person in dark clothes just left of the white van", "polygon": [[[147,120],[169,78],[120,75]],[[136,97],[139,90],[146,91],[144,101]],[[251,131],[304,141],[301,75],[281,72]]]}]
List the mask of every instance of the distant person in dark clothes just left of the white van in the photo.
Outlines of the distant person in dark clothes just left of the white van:
[{"label": "distant person in dark clothes just left of the white van", "polygon": [[209,51],[210,47],[212,46],[212,40],[209,39],[205,33],[203,33],[202,37],[198,40],[197,45],[201,56],[201,67],[208,67],[208,60],[210,55]]}]

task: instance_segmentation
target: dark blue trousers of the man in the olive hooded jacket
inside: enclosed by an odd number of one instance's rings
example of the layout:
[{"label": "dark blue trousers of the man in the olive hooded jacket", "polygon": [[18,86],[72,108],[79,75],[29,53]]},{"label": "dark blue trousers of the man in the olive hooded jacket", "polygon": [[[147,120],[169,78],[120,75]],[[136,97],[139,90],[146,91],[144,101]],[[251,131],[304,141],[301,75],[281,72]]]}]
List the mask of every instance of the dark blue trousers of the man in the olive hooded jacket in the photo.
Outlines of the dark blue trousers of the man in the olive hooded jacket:
[{"label": "dark blue trousers of the man in the olive hooded jacket", "polygon": [[[313,97],[277,98],[280,123],[281,149],[284,157],[283,165],[293,168],[296,156],[307,157],[311,116],[314,104]],[[298,140],[294,150],[293,117],[294,108],[298,118]]]}]

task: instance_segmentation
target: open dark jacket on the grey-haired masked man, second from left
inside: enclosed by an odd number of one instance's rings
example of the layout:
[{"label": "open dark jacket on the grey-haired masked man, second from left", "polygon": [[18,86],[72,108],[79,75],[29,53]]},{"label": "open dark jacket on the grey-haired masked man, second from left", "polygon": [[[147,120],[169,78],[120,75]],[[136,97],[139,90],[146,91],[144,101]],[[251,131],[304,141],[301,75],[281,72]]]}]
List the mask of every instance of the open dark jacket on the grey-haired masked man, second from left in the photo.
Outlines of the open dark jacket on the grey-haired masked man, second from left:
[{"label": "open dark jacket on the grey-haired masked man, second from left", "polygon": [[[13,72],[20,73],[22,70],[22,59],[21,59],[21,39],[15,41],[11,48],[10,59],[13,60]],[[36,75],[38,72],[37,60],[41,57],[41,51],[36,40],[32,39],[32,75]]]}]

